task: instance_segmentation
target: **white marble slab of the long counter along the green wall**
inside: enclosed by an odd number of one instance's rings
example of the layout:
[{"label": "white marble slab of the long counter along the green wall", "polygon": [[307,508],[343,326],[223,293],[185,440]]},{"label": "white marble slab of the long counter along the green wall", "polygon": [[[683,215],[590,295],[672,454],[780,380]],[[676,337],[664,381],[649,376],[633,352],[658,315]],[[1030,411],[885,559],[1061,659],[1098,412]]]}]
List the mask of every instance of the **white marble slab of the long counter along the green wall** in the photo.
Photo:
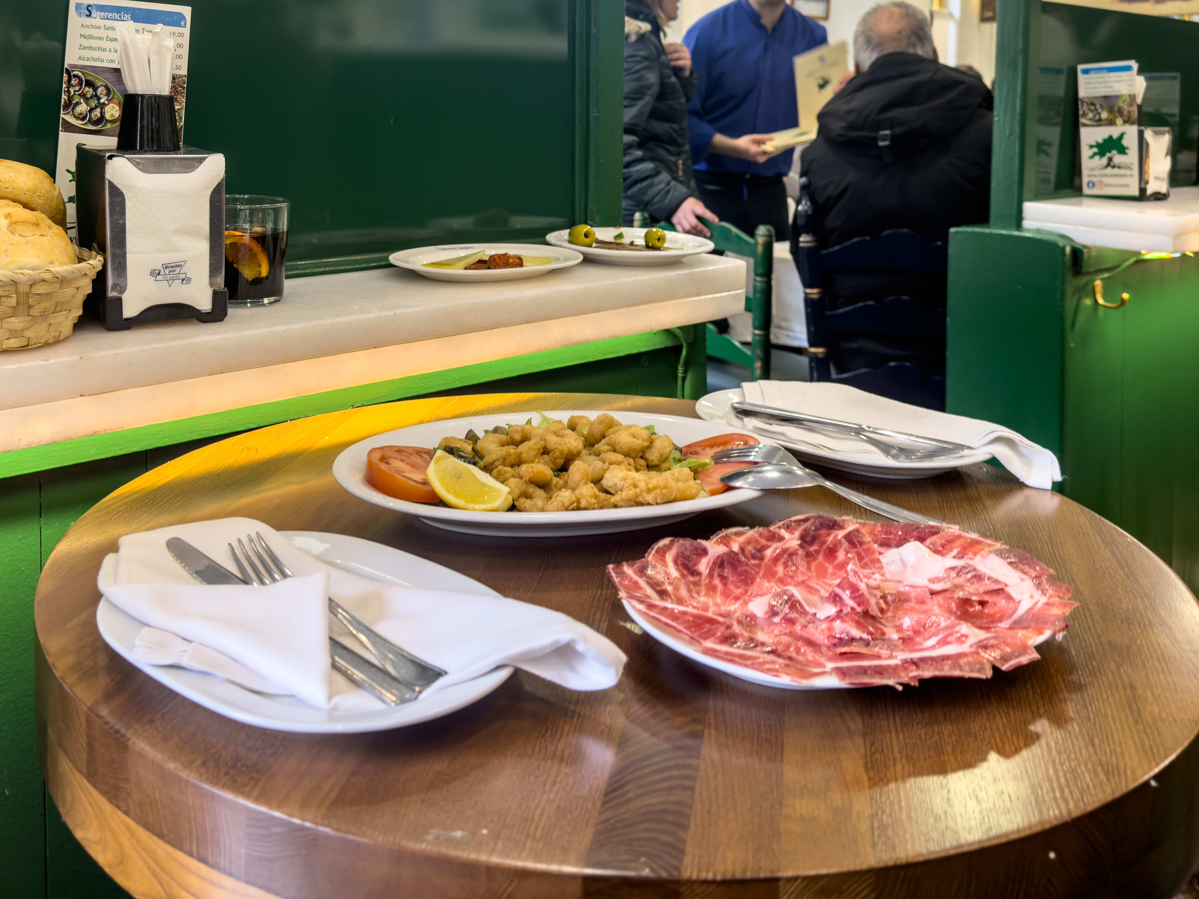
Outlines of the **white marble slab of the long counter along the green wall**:
[{"label": "white marble slab of the long counter along the green wall", "polygon": [[[282,302],[222,322],[164,321],[0,354],[0,409],[745,289],[742,263],[589,265],[511,283],[451,284],[402,269],[293,278]],[[682,324],[682,322],[679,322]],[[579,334],[579,342],[592,339]]]}]

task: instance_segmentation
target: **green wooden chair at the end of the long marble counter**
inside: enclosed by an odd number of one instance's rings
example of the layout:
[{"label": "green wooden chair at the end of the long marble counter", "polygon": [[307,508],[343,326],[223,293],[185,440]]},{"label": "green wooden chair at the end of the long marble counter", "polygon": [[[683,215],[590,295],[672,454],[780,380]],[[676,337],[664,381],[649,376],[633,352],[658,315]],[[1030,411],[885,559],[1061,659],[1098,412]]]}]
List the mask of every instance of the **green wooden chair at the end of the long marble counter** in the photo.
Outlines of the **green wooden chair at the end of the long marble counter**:
[{"label": "green wooden chair at the end of the long marble counter", "polygon": [[[638,213],[640,215],[640,213]],[[771,298],[775,278],[775,229],[770,225],[758,225],[754,236],[734,225],[719,222],[712,224],[706,218],[700,219],[712,233],[712,243],[723,253],[736,253],[749,257],[753,264],[753,290],[746,294],[746,312],[753,313],[753,337],[749,349],[728,334],[722,334],[709,322],[707,355],[745,366],[749,369],[749,380],[760,381],[770,378],[770,321],[773,314]],[[640,227],[640,225],[638,225]],[[659,222],[658,228],[675,230],[669,222]]]}]

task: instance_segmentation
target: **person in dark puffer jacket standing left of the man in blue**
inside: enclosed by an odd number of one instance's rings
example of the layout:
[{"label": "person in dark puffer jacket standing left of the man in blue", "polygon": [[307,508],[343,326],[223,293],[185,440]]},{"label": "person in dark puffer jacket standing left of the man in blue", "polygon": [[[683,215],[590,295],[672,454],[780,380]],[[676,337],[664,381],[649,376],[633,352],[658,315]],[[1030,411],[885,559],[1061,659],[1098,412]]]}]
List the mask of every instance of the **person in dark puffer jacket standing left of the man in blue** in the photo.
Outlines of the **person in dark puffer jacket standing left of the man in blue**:
[{"label": "person in dark puffer jacket standing left of the man in blue", "polygon": [[625,5],[623,224],[635,212],[709,236],[697,218],[719,219],[699,201],[687,144],[687,103],[698,79],[681,43],[663,46],[662,28],[679,18],[679,0]]}]

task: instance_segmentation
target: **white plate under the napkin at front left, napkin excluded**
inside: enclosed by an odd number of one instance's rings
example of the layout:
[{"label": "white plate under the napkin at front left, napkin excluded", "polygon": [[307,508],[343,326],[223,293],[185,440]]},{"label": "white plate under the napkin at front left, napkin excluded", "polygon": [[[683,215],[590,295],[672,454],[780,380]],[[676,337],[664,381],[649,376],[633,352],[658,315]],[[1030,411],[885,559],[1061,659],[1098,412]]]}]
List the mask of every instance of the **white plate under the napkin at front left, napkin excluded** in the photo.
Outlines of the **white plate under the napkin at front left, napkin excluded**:
[{"label": "white plate under the napkin at front left, napkin excluded", "polygon": [[[499,596],[494,590],[456,571],[391,547],[319,531],[283,531],[288,538],[307,538],[303,549],[329,565],[385,584]],[[314,541],[314,542],[308,542]],[[318,549],[318,544],[323,549]],[[453,610],[447,609],[447,615]],[[294,734],[361,734],[418,724],[469,706],[499,687],[512,674],[505,665],[463,683],[446,687],[402,706],[374,711],[337,712],[313,708],[295,696],[267,696],[201,671],[174,665],[149,665],[133,657],[133,644],[144,625],[108,599],[101,598],[96,625],[104,641],[129,664],[141,669],[180,695],[227,718],[267,730]]]}]

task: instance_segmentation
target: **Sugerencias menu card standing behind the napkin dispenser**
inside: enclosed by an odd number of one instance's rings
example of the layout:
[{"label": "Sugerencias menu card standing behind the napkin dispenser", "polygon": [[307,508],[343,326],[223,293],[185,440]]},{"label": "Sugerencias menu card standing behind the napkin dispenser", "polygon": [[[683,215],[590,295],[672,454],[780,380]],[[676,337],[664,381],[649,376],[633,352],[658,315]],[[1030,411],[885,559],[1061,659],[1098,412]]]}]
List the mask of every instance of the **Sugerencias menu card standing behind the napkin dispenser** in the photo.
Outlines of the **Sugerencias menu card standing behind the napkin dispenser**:
[{"label": "Sugerencias menu card standing behind the napkin dispenser", "polygon": [[175,120],[180,131],[183,127],[192,7],[133,0],[120,4],[70,2],[55,181],[67,201],[67,231],[72,236],[76,222],[76,146],[115,147],[121,128],[126,90],[116,41],[119,22],[144,26],[146,31],[162,25],[174,40],[170,92],[175,98]]}]

